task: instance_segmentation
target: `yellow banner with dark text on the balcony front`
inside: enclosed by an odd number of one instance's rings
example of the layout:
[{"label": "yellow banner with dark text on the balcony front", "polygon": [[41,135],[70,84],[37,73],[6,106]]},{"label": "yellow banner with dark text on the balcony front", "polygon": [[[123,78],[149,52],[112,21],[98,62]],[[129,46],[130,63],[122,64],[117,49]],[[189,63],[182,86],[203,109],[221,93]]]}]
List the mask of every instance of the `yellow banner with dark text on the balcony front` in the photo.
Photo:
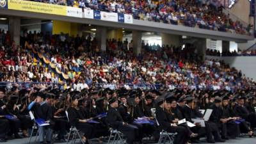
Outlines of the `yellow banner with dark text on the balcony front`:
[{"label": "yellow banner with dark text on the balcony front", "polygon": [[58,4],[38,3],[34,1],[8,0],[8,9],[28,12],[67,15],[67,6]]}]

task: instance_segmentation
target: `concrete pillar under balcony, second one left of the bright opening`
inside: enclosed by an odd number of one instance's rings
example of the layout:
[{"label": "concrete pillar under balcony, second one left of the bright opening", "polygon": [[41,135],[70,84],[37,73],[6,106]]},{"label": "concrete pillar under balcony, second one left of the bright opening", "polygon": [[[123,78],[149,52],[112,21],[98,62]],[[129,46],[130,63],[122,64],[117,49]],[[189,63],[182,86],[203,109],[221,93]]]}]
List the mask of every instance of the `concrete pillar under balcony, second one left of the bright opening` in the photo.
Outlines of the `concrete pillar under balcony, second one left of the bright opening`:
[{"label": "concrete pillar under balcony, second one left of the bright opening", "polygon": [[97,46],[99,47],[100,51],[106,51],[107,28],[97,27],[96,40]]}]

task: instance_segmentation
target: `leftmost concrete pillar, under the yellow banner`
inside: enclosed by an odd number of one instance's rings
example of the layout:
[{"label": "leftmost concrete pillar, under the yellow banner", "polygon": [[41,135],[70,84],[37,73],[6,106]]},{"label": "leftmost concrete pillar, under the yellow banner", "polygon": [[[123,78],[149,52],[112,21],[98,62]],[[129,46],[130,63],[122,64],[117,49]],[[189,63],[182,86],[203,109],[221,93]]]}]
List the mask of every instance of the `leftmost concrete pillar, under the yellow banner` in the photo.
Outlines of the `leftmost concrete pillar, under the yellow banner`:
[{"label": "leftmost concrete pillar, under the yellow banner", "polygon": [[9,31],[15,45],[20,45],[20,17],[9,17]]}]

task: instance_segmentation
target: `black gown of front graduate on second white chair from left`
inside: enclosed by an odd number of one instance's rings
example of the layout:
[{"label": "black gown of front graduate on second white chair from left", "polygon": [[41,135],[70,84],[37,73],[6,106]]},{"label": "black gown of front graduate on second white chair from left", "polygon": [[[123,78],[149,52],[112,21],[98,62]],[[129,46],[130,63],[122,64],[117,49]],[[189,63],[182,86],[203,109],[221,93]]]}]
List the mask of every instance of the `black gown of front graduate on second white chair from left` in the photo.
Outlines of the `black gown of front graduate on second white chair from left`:
[{"label": "black gown of front graduate on second white chair from left", "polygon": [[79,109],[70,107],[67,109],[69,124],[75,126],[79,131],[84,133],[87,139],[93,138],[93,126],[86,122],[79,122],[79,120],[84,120],[83,115]]}]

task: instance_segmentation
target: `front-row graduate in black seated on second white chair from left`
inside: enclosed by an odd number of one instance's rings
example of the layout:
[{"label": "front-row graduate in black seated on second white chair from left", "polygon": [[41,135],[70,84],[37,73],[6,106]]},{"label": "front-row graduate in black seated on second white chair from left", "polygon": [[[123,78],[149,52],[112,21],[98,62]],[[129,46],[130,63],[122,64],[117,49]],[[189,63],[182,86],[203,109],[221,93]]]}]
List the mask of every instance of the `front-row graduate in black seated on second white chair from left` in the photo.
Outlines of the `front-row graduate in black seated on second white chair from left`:
[{"label": "front-row graduate in black seated on second white chair from left", "polygon": [[71,104],[72,106],[67,109],[68,112],[68,119],[70,122],[70,125],[76,127],[79,131],[83,132],[84,135],[82,136],[82,140],[84,143],[88,144],[88,140],[90,138],[93,138],[93,126],[88,123],[88,120],[83,117],[83,114],[81,113],[79,109],[79,96],[73,95],[71,97]]}]

